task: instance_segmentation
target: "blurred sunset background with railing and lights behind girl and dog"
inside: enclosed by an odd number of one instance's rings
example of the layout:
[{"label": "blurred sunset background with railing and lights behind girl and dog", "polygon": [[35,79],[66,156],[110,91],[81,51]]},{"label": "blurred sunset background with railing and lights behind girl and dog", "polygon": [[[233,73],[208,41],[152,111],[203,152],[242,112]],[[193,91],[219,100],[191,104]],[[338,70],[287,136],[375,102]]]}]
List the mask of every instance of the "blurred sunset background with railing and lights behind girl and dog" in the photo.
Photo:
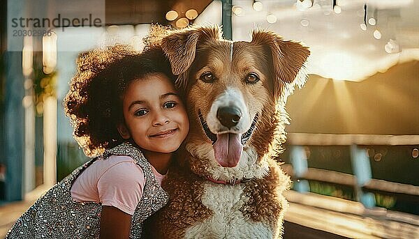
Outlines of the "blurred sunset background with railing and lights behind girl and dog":
[{"label": "blurred sunset background with railing and lights behind girl and dog", "polygon": [[78,54],[211,22],[311,49],[278,158],[293,179],[284,238],[419,238],[418,13],[418,0],[0,0],[0,236],[88,160],[62,106]]}]

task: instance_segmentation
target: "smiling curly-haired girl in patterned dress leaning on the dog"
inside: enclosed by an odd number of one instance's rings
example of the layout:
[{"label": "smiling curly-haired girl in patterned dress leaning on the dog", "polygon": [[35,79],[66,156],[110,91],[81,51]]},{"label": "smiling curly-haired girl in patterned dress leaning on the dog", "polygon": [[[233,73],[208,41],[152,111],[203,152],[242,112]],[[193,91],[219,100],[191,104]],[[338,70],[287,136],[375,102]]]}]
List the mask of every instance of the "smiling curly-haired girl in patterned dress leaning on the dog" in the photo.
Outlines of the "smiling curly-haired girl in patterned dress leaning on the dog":
[{"label": "smiling curly-haired girl in patterned dress leaning on the dog", "polygon": [[168,201],[161,180],[189,131],[172,79],[159,47],[81,54],[64,105],[84,152],[100,155],[38,199],[6,238],[140,238]]}]

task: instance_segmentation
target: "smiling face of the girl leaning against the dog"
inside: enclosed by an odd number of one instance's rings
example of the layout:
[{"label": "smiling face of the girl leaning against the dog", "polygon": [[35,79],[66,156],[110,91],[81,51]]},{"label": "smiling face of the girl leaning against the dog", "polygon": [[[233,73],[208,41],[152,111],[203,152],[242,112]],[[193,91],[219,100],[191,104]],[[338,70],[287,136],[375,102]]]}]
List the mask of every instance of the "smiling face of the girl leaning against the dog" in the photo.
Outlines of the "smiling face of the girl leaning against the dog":
[{"label": "smiling face of the girl leaning against the dog", "polygon": [[136,79],[126,88],[125,125],[118,125],[124,139],[133,139],[146,151],[172,153],[189,132],[186,109],[170,79],[162,73]]}]

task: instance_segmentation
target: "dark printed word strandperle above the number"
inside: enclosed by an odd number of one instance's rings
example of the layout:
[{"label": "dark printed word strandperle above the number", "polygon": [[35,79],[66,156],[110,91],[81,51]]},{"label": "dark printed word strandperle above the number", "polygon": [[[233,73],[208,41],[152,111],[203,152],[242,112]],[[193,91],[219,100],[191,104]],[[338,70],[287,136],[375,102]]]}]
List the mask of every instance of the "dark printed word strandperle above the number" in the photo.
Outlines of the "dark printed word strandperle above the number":
[{"label": "dark printed word strandperle above the number", "polygon": [[13,28],[25,28],[25,29],[32,29],[35,30],[37,28],[42,29],[51,29],[51,28],[61,28],[62,31],[66,27],[73,26],[102,26],[102,20],[98,17],[93,18],[91,14],[89,17],[74,17],[74,18],[67,18],[61,17],[61,14],[58,14],[57,17],[50,19],[50,18],[36,18],[36,17],[19,17],[19,18],[12,18],[12,27]]}]

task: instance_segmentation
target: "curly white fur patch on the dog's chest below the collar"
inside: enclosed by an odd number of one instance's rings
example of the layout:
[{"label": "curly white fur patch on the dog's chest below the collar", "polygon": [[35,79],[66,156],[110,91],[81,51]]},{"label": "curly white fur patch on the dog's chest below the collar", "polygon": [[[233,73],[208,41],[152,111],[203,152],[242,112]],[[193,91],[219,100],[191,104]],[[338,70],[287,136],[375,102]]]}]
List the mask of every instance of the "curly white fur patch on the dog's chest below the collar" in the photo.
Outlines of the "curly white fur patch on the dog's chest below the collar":
[{"label": "curly white fur patch on the dog's chest below the collar", "polygon": [[272,238],[270,226],[246,219],[240,212],[249,199],[243,194],[244,184],[207,182],[203,187],[202,202],[214,215],[186,230],[185,238]]}]

